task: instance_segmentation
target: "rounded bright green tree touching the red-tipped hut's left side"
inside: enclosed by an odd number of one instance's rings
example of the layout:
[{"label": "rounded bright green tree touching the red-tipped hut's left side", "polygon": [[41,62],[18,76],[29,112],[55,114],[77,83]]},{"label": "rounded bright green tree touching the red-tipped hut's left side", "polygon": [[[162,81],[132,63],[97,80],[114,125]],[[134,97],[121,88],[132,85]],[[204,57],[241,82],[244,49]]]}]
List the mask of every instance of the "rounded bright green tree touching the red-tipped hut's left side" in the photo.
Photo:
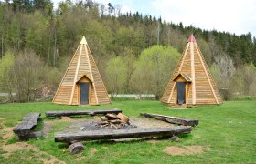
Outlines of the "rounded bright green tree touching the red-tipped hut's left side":
[{"label": "rounded bright green tree touching the red-tipped hut's left side", "polygon": [[135,63],[133,88],[137,93],[154,94],[157,99],[160,98],[179,56],[172,46],[144,49]]}]

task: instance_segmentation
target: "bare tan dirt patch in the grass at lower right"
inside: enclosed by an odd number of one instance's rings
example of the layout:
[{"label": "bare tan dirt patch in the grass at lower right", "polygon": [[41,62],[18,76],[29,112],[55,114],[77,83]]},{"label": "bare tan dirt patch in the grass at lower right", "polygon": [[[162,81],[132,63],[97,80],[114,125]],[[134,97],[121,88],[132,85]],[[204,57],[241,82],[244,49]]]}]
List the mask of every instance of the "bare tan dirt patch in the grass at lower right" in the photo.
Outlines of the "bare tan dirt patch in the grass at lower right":
[{"label": "bare tan dirt patch in the grass at lower right", "polygon": [[204,149],[202,146],[187,146],[184,148],[181,147],[176,147],[176,146],[170,146],[166,147],[164,149],[164,152],[169,154],[169,155],[195,155],[195,154],[201,154],[204,152]]}]

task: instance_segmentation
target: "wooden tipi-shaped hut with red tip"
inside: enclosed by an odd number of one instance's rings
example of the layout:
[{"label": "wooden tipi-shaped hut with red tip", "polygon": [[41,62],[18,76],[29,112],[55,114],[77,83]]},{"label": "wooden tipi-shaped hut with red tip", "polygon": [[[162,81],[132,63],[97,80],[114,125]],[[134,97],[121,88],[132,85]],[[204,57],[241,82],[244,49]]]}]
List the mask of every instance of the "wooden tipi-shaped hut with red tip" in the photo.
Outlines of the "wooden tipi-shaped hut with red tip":
[{"label": "wooden tipi-shaped hut with red tip", "polygon": [[170,106],[220,104],[222,99],[193,35],[171,77],[161,102]]}]

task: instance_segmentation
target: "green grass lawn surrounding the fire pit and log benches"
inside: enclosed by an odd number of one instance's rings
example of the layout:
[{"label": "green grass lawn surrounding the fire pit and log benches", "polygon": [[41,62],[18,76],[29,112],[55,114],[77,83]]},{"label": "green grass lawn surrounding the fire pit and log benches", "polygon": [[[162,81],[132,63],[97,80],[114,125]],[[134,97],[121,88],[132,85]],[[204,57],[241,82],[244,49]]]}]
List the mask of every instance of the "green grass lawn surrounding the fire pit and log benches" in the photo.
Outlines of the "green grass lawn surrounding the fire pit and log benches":
[{"label": "green grass lawn surrounding the fire pit and log benches", "polygon": [[[66,123],[57,122],[48,137],[30,139],[27,142],[35,149],[17,149],[6,152],[3,147],[13,144],[16,138],[4,138],[5,129],[12,128],[28,112],[44,112],[61,109],[120,108],[127,116],[139,116],[141,112],[156,113],[184,118],[197,118],[199,125],[192,132],[180,136],[180,142],[168,139],[155,144],[145,140],[110,143],[85,143],[86,149],[78,155],[69,155],[62,143],[54,142],[54,132],[65,127]],[[48,119],[50,120],[50,119]],[[113,101],[112,105],[94,107],[62,106],[51,103],[24,103],[0,105],[0,163],[256,163],[256,101],[229,101],[221,106],[205,106],[187,110],[168,109],[158,101]],[[164,152],[167,146],[202,146],[204,152],[196,155],[172,156]],[[97,149],[91,153],[91,149]]]}]

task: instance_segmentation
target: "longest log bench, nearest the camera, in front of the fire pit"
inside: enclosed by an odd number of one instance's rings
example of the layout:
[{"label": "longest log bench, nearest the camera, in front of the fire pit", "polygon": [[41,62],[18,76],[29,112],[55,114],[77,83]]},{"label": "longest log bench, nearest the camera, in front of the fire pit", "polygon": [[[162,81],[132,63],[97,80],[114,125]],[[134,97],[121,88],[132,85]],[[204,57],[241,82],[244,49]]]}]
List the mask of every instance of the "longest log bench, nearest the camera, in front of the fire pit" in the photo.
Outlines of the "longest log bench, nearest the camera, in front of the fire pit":
[{"label": "longest log bench, nearest the camera, in front of the fire pit", "polygon": [[55,134],[55,142],[74,143],[78,141],[109,140],[119,138],[172,137],[182,133],[190,133],[191,130],[191,127],[177,126],[169,128],[130,128],[67,133],[59,132]]}]

